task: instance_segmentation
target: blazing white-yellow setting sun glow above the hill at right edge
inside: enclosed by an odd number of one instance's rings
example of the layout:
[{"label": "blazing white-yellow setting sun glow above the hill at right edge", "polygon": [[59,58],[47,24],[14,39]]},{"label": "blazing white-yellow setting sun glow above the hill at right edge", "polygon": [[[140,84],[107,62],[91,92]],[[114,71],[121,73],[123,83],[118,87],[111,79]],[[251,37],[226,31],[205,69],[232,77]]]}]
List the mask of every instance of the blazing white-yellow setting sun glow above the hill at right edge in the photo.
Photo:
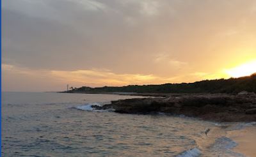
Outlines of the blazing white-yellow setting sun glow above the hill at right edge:
[{"label": "blazing white-yellow setting sun glow above the hill at right edge", "polygon": [[244,77],[256,73],[256,60],[225,70],[230,77]]}]

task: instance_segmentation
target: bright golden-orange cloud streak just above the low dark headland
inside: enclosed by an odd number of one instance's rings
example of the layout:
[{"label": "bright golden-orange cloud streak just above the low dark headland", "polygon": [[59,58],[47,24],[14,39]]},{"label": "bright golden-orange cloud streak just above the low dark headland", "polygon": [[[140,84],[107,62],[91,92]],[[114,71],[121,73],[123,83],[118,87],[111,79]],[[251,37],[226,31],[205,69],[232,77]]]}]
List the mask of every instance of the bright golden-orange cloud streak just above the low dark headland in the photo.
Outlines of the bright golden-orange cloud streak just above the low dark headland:
[{"label": "bright golden-orange cloud streak just above the low dark headland", "polygon": [[172,78],[162,78],[156,75],[143,75],[140,73],[113,73],[106,70],[74,70],[74,71],[51,71],[51,75],[70,82],[92,84],[97,82],[100,86],[125,86],[129,84],[164,84]]}]

